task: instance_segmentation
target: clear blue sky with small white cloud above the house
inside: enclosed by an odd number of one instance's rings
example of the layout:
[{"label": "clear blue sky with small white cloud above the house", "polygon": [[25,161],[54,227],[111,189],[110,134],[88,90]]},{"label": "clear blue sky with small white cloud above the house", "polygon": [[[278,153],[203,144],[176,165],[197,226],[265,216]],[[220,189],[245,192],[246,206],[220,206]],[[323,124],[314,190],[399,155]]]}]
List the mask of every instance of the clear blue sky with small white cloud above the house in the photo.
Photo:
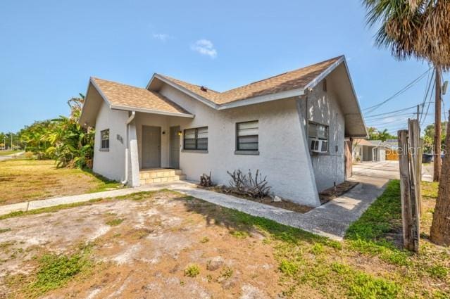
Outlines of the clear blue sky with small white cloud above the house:
[{"label": "clear blue sky with small white cloud above the house", "polygon": [[[224,91],[341,54],[366,108],[429,68],[395,61],[373,46],[374,33],[360,0],[4,0],[0,132],[67,115],[66,101],[85,93],[89,76],[144,87],[159,72]],[[426,81],[370,114],[422,102]],[[390,130],[405,123],[373,119]]]}]

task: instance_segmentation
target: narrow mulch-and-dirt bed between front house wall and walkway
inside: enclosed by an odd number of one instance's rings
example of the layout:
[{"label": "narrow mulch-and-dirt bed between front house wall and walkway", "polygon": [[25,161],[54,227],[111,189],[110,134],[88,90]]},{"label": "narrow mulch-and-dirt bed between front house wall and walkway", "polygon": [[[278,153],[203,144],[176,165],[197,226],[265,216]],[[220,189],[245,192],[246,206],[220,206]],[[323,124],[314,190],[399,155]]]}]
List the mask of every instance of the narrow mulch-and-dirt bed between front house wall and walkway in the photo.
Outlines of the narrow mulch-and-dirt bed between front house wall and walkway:
[{"label": "narrow mulch-and-dirt bed between front house wall and walkway", "polygon": [[230,189],[227,189],[225,186],[211,186],[204,187],[197,185],[197,188],[206,189],[208,191],[214,191],[218,193],[223,193],[231,196],[236,196],[239,198],[246,199],[247,201],[255,201],[256,203],[263,203],[265,205],[272,205],[273,207],[282,208],[285,210],[290,210],[299,213],[306,213],[308,211],[313,210],[313,208],[308,207],[307,205],[299,205],[298,203],[293,203],[292,201],[286,201],[285,199],[280,198],[280,201],[274,201],[273,198],[269,196],[265,196],[263,198],[252,198],[250,196],[244,196],[242,194],[233,193]]}]

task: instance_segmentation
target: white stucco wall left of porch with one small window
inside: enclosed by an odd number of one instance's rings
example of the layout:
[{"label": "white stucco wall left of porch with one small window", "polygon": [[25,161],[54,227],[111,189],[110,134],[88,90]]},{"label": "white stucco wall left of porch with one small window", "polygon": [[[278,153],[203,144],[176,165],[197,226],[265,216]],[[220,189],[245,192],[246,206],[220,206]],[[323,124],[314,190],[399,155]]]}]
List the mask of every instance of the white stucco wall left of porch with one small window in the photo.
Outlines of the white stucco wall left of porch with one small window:
[{"label": "white stucco wall left of porch with one small window", "polygon": [[[106,103],[102,103],[96,117],[94,141],[94,167],[93,171],[115,181],[125,179],[125,129],[128,112],[111,110]],[[109,129],[109,151],[100,151],[101,134]],[[123,143],[117,139],[122,136]]]}]

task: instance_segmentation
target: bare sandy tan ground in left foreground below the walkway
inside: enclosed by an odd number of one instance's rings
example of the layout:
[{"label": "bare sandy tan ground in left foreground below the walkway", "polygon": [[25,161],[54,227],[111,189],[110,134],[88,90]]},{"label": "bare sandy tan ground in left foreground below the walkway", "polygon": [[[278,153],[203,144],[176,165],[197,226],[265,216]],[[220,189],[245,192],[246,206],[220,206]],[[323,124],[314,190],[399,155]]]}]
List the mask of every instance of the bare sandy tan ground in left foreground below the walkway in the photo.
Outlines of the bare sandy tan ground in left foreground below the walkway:
[{"label": "bare sandy tan ground in left foreground below the walkway", "polygon": [[[236,228],[221,222],[211,206],[167,192],[2,220],[0,229],[11,230],[0,234],[0,298],[25,297],[24,286],[6,282],[35,275],[33,257],[70,254],[89,242],[92,271],[46,298],[277,298],[273,245],[258,231],[244,238],[230,234]],[[106,224],[114,219],[123,222]],[[192,264],[199,275],[185,276]]]}]

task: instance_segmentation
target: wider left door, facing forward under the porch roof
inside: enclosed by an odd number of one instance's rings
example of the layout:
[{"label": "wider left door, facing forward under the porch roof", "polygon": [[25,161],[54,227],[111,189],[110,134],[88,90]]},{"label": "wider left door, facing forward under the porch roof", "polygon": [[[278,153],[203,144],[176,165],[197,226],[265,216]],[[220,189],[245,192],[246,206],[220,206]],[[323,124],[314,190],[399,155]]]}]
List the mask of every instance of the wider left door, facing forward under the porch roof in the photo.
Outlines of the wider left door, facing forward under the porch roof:
[{"label": "wider left door, facing forward under the porch roof", "polygon": [[161,167],[161,127],[142,126],[142,168]]}]

